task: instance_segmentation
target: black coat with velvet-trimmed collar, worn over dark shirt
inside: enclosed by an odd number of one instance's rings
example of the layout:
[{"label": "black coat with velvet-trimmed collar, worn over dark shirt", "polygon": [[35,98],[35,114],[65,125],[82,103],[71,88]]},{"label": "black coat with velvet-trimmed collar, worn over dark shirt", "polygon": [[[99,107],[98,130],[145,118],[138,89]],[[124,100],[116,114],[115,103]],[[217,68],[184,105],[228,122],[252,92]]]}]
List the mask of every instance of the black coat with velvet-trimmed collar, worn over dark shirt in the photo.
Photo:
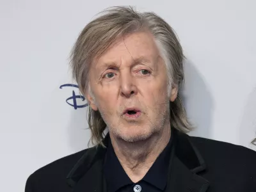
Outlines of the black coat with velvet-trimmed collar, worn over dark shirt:
[{"label": "black coat with velvet-trimmed collar, worn over dark shirt", "polygon": [[[256,152],[173,131],[166,191],[256,192]],[[109,136],[104,143],[107,145]],[[106,148],[93,147],[54,161],[29,176],[25,192],[106,192]],[[148,191],[150,192],[150,191]]]}]

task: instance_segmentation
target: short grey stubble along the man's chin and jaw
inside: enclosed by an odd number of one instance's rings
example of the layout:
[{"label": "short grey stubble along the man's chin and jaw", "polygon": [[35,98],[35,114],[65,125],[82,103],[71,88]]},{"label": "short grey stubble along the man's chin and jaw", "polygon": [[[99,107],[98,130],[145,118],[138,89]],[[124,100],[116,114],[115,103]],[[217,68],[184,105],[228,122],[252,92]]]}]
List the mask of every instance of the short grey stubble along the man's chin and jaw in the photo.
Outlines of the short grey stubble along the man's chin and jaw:
[{"label": "short grey stubble along the man's chin and jaw", "polygon": [[[163,111],[163,108],[166,108],[167,102],[158,102],[155,107],[145,109],[146,113],[143,113],[143,120],[125,120],[121,113],[109,113],[108,110],[99,108],[100,115],[102,116],[104,122],[109,129],[109,132],[116,138],[116,140],[125,141],[127,143],[143,143],[145,140],[150,139],[154,134],[158,134],[162,131],[167,111]],[[168,110],[168,109],[167,109]],[[151,111],[155,116],[148,114]],[[116,116],[113,119],[113,116]],[[144,125],[143,125],[144,124]],[[124,126],[127,126],[124,128]],[[129,126],[131,131],[133,129],[134,134],[129,131]],[[125,130],[128,129],[128,130]],[[141,129],[144,131],[136,131],[136,129]],[[138,132],[138,134],[136,134]],[[141,142],[140,142],[141,141]]]}]

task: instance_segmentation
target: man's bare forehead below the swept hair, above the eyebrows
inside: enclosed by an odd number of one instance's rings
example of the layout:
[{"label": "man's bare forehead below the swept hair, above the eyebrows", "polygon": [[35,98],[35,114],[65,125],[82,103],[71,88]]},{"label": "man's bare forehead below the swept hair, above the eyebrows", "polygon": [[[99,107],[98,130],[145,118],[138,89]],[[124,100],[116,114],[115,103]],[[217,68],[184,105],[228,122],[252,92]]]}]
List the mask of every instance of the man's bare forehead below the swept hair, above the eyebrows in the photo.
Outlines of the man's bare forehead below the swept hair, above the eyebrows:
[{"label": "man's bare forehead below the swept hair, above the eyebrows", "polygon": [[[154,36],[147,31],[140,31],[116,40],[109,49],[100,56],[96,68],[106,63],[120,63],[121,59],[150,61],[157,58],[159,51]],[[105,63],[105,64],[104,64]],[[98,65],[98,66],[97,66]]]}]

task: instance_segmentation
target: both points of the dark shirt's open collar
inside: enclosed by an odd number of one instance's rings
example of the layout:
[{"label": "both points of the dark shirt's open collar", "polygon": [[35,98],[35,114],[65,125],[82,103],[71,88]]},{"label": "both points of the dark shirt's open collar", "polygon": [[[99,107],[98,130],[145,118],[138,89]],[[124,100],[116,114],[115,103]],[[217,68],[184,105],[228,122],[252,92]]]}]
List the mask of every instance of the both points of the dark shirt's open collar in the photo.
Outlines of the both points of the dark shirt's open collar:
[{"label": "both points of the dark shirt's open collar", "polygon": [[[142,180],[161,190],[165,188],[168,179],[171,149],[172,137]],[[133,183],[116,157],[111,140],[109,140],[103,171],[110,192],[115,192],[123,186]]]}]

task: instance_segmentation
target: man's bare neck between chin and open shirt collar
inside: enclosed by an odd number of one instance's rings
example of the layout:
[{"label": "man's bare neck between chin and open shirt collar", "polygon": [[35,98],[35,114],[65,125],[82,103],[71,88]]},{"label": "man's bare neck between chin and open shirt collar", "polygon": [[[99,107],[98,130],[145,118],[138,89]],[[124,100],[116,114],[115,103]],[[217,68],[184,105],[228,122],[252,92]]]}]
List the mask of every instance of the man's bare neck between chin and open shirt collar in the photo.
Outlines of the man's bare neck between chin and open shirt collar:
[{"label": "man's bare neck between chin and open shirt collar", "polygon": [[153,134],[147,140],[134,143],[118,140],[111,136],[115,154],[132,182],[138,182],[145,176],[170,141],[170,136],[170,124],[164,126],[161,132]]}]

